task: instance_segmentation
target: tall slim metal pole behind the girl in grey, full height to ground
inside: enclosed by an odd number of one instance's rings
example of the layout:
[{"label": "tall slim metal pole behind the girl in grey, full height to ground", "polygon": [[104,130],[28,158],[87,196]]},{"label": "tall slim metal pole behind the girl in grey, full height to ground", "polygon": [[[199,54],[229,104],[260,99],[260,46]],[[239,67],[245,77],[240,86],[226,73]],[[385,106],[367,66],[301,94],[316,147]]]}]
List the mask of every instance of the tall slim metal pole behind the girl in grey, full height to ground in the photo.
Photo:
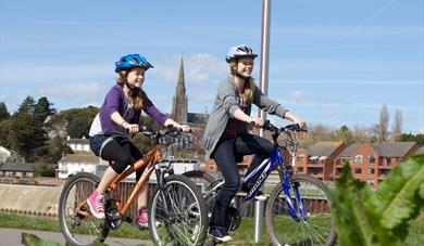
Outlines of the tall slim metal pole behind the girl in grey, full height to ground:
[{"label": "tall slim metal pole behind the girl in grey, full height to ground", "polygon": [[[262,9],[262,35],[261,35],[261,85],[262,93],[267,95],[267,74],[270,62],[270,22],[271,22],[271,0],[263,0]],[[266,120],[266,113],[259,109],[258,117]],[[264,137],[261,129],[260,135]],[[259,243],[262,236],[262,220],[264,200],[254,200],[254,243]]]}]

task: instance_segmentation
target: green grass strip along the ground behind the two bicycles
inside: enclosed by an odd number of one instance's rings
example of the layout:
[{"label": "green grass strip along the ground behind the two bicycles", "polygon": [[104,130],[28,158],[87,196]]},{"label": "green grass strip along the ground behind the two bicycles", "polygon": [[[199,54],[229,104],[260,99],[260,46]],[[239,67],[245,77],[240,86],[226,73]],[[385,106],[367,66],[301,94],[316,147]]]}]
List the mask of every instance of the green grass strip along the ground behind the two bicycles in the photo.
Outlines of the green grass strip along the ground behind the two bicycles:
[{"label": "green grass strip along the ground behind the two bicycles", "polygon": [[[58,220],[5,212],[0,212],[0,228],[60,232]],[[245,218],[240,226],[235,232],[230,233],[234,241],[223,245],[271,245],[264,223],[262,225],[262,238],[260,244],[253,243],[253,228],[254,220],[252,218]],[[287,228],[289,226],[282,225],[282,231],[287,232]],[[109,236],[150,239],[148,230],[139,231],[137,228],[126,222],[117,231],[111,231]],[[407,237],[404,245],[424,245],[424,215],[421,215],[411,224],[410,234]]]}]

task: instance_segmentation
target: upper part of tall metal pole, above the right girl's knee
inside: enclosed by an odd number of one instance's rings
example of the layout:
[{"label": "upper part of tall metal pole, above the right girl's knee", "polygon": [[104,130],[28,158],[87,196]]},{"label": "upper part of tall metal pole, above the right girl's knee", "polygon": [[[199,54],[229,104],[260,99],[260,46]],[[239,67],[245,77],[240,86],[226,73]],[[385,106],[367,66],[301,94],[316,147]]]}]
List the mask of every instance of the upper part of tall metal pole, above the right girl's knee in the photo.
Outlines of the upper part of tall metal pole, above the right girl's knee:
[{"label": "upper part of tall metal pole, above the right girl's knee", "polygon": [[[261,70],[260,70],[260,89],[262,93],[267,95],[267,75],[270,63],[270,23],[271,23],[271,0],[263,0],[262,9],[262,34],[261,34]],[[266,113],[259,109],[258,117],[262,120],[266,120]],[[263,137],[264,132],[261,129],[260,135]]]}]

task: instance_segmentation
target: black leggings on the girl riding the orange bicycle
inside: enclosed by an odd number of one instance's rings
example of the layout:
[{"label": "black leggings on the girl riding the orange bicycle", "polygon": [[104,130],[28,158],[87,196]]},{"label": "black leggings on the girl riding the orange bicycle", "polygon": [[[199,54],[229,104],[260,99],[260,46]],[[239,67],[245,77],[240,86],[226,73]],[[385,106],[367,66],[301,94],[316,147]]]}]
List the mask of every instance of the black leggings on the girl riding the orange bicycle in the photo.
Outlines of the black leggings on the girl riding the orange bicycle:
[{"label": "black leggings on the girl riding the orange bicycle", "polygon": [[[133,166],[141,157],[141,152],[126,138],[113,138],[101,152],[101,158],[112,161],[111,167],[117,173],[124,172],[128,165]],[[140,179],[144,170],[137,170],[136,180]]]}]

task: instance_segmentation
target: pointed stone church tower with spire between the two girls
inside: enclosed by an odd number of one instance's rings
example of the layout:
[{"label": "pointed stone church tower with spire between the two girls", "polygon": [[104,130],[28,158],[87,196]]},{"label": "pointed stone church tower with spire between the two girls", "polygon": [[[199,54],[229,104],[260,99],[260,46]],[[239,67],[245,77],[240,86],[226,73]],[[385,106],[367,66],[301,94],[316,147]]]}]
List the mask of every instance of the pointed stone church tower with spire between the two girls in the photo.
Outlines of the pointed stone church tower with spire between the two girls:
[{"label": "pointed stone church tower with spire between the two girls", "polygon": [[176,93],[173,98],[172,118],[180,124],[187,124],[188,116],[188,99],[186,95],[186,85],[184,81],[184,62],[179,65],[178,82]]}]

